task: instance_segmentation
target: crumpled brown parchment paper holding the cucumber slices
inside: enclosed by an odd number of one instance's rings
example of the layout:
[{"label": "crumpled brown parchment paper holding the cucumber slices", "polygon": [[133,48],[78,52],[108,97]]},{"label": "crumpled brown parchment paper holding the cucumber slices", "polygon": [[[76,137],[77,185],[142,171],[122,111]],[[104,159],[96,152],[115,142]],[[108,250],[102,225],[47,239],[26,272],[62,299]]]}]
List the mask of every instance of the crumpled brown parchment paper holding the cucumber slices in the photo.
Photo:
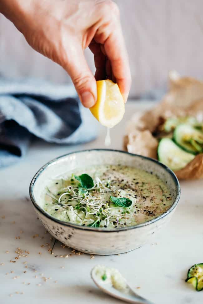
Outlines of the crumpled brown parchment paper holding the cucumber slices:
[{"label": "crumpled brown parchment paper holding the cucumber slices", "polygon": [[[194,116],[203,122],[203,82],[169,74],[169,92],[154,108],[135,113],[126,126],[124,148],[128,152],[157,159],[158,140],[153,132],[170,117]],[[179,179],[203,178],[203,154],[198,154],[187,166],[175,171]]]}]

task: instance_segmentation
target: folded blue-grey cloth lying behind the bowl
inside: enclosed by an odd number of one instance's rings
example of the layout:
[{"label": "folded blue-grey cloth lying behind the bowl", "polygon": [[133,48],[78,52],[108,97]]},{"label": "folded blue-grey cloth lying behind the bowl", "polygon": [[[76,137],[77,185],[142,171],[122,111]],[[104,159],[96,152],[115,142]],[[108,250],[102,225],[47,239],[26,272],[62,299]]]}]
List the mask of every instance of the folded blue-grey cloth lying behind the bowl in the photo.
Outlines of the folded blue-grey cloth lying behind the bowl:
[{"label": "folded blue-grey cloth lying behind the bowl", "polygon": [[0,167],[23,157],[32,135],[76,144],[91,141],[96,134],[97,123],[72,85],[0,78]]}]

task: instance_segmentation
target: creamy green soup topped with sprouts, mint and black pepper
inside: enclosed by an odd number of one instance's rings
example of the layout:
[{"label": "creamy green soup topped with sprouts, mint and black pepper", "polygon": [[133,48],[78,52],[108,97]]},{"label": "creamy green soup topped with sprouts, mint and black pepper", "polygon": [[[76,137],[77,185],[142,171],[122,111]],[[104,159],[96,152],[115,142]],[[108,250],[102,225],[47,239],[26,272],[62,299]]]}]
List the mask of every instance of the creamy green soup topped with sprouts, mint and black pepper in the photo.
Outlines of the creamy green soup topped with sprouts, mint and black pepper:
[{"label": "creamy green soup topped with sprouts, mint and black pepper", "polygon": [[129,166],[97,166],[52,180],[43,208],[65,222],[94,228],[121,228],[156,218],[172,204],[156,175]]}]

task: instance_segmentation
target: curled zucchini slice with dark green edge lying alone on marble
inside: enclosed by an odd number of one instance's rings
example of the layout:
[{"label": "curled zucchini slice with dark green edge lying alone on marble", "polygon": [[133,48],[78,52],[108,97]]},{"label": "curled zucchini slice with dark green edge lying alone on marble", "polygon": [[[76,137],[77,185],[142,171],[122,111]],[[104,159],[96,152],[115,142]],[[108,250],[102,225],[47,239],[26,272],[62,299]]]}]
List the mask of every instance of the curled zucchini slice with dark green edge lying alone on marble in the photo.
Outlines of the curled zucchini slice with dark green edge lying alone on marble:
[{"label": "curled zucchini slice with dark green edge lying alone on marble", "polygon": [[186,282],[191,283],[197,291],[203,290],[203,263],[195,264],[188,270]]}]

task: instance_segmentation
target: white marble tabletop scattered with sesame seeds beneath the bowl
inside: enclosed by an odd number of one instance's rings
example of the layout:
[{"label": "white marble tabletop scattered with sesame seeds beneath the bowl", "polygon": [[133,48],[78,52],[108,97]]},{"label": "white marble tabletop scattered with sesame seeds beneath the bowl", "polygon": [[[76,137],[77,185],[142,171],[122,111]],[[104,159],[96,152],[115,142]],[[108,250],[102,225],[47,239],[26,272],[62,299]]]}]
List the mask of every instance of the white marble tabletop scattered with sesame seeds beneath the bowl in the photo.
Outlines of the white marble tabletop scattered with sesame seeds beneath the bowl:
[{"label": "white marble tabletop scattered with sesame seeds beneath the bowl", "polygon": [[[128,103],[125,121],[136,109],[149,106],[150,103]],[[112,131],[110,148],[122,148],[125,121]],[[50,235],[45,234],[28,199],[31,178],[54,157],[74,150],[104,147],[105,135],[105,128],[101,128],[94,142],[70,147],[35,141],[21,162],[0,171],[0,303],[121,303],[100,292],[92,282],[90,270],[96,264],[118,268],[133,287],[140,287],[136,290],[141,296],[155,304],[202,303],[202,293],[184,282],[188,268],[203,262],[202,180],[181,182],[181,200],[175,214],[167,228],[155,236],[153,244],[120,256],[95,256],[94,259],[86,254],[55,257],[71,253],[60,244],[56,244],[53,255],[47,251],[45,244],[52,246],[53,242]],[[35,234],[39,236],[33,238]],[[15,239],[17,236],[20,239]],[[45,247],[42,248],[42,244]],[[15,260],[17,247],[30,253]],[[44,282],[42,277],[50,279]]]}]

